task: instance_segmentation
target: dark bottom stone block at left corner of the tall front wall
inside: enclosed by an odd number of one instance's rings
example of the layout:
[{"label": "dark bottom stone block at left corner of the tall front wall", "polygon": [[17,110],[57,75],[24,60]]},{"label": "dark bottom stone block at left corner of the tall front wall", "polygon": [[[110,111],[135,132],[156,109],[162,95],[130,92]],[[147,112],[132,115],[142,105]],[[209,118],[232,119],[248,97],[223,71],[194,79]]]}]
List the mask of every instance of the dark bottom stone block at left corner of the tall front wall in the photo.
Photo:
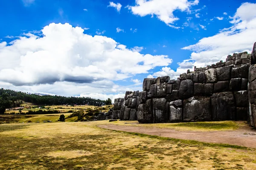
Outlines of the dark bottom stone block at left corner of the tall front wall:
[{"label": "dark bottom stone block at left corner of the tall front wall", "polygon": [[153,123],[152,99],[148,99],[145,104],[140,104],[138,108],[138,122]]}]

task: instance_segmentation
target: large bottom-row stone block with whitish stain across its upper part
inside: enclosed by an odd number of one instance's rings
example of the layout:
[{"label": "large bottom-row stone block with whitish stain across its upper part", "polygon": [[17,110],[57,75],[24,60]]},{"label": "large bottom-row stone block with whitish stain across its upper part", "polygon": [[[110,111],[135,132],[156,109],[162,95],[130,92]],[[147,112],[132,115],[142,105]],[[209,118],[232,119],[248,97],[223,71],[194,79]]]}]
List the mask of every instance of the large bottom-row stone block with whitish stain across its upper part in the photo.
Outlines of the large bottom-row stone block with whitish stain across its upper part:
[{"label": "large bottom-row stone block with whitish stain across its upper part", "polygon": [[183,122],[211,121],[210,97],[194,96],[184,100]]}]

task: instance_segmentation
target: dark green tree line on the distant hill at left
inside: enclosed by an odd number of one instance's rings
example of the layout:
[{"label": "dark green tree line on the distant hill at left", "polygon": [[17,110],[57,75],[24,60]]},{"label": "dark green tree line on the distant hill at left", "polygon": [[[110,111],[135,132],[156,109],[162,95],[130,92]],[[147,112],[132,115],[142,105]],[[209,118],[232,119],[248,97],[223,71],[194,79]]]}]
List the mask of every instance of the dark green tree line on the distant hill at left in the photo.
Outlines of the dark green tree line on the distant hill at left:
[{"label": "dark green tree line on the distant hill at left", "polygon": [[100,100],[90,97],[65,97],[51,95],[29,94],[21,91],[13,91],[9,89],[0,89],[0,113],[4,113],[6,108],[19,107],[18,100],[33,103],[34,105],[93,105],[103,106],[111,105],[111,99]]}]

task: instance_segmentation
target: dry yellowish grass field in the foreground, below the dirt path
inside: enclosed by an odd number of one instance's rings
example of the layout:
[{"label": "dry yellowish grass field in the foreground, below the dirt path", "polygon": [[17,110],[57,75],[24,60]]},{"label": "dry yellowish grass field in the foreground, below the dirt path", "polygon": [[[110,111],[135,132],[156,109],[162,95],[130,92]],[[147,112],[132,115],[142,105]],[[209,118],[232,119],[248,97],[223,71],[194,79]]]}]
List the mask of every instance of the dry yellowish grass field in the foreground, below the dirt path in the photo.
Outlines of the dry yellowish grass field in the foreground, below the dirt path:
[{"label": "dry yellowish grass field in the foreground, below the dirt path", "polygon": [[255,170],[256,167],[256,149],[173,140],[96,126],[106,123],[125,122],[2,124],[0,169]]}]

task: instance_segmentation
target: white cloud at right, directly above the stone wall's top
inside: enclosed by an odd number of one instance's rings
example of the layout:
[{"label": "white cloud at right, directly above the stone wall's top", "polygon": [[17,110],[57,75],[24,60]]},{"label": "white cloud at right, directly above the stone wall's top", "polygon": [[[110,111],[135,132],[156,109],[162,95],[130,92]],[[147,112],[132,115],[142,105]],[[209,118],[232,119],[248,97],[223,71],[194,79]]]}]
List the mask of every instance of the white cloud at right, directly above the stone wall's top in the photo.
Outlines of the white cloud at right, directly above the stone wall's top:
[{"label": "white cloud at right, directly above the stone wall's top", "polygon": [[[243,3],[232,17],[232,26],[222,29],[218,34],[205,37],[194,45],[183,49],[192,50],[189,61],[191,66],[204,67],[227,58],[235,52],[251,52],[256,41],[252,36],[256,32],[256,3]],[[184,64],[181,62],[182,64]],[[181,64],[180,63],[180,64]],[[191,67],[192,69],[192,67]]]}]

